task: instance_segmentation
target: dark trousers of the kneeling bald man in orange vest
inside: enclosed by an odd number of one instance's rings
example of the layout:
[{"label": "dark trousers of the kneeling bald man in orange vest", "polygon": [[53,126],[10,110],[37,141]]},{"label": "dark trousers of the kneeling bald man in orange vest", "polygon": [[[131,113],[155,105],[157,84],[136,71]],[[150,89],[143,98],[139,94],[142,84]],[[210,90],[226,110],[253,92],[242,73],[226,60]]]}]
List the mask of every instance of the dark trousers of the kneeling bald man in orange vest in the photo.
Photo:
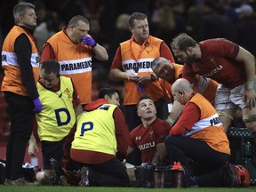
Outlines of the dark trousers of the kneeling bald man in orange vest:
[{"label": "dark trousers of the kneeling bald man in orange vest", "polygon": [[182,136],[167,136],[165,147],[172,162],[180,164],[197,176],[201,187],[220,187],[221,167],[228,162],[228,154],[212,149],[206,142]]}]

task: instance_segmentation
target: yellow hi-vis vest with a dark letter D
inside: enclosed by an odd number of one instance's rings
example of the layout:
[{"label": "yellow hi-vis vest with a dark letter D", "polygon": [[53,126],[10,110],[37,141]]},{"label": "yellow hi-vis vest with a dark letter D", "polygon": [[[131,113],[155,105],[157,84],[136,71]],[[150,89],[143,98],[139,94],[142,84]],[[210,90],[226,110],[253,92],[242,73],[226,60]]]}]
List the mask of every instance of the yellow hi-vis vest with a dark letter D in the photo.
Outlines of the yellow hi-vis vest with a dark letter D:
[{"label": "yellow hi-vis vest with a dark letter D", "polygon": [[37,83],[39,99],[43,103],[43,110],[36,113],[38,136],[40,140],[59,141],[68,135],[76,123],[73,108],[74,87],[71,79],[60,76],[60,91],[52,92]]}]

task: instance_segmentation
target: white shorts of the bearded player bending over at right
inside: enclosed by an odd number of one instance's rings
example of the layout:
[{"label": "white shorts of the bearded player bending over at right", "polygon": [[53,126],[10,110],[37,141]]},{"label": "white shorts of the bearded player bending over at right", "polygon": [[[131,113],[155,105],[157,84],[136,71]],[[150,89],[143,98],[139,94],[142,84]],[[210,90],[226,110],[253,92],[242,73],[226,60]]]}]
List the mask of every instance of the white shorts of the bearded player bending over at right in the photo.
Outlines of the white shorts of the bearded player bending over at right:
[{"label": "white shorts of the bearded player bending over at right", "polygon": [[[254,77],[254,90],[256,90],[256,81]],[[243,100],[246,84],[236,86],[233,89],[228,89],[222,84],[219,84],[216,92],[214,108],[216,110],[224,110],[229,108],[245,108],[247,104]]]}]

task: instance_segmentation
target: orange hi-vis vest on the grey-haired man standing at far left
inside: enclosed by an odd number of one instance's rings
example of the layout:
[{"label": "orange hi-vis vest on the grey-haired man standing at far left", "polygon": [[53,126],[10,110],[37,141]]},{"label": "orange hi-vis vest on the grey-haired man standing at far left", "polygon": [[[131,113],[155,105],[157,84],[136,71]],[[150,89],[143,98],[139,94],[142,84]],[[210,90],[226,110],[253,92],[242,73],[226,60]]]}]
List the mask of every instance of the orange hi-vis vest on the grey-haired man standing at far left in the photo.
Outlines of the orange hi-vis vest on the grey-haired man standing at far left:
[{"label": "orange hi-vis vest on the grey-haired man standing at far left", "polygon": [[4,69],[4,80],[1,86],[1,91],[14,92],[22,96],[28,96],[26,87],[22,84],[20,66],[16,53],[14,52],[14,43],[16,38],[21,34],[28,36],[30,41],[32,54],[30,58],[31,66],[33,67],[33,73],[35,78],[35,84],[39,77],[39,62],[38,52],[36,44],[32,36],[24,28],[20,26],[14,26],[9,34],[4,39],[2,48],[2,68]]}]

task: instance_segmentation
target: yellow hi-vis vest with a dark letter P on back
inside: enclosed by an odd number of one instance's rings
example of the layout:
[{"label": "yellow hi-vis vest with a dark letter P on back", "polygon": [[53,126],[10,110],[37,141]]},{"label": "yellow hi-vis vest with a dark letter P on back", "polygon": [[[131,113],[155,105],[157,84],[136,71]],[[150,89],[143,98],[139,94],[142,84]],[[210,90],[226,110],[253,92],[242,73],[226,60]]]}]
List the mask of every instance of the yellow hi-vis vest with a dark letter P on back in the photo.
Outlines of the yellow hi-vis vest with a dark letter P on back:
[{"label": "yellow hi-vis vest with a dark letter P on back", "polygon": [[116,105],[104,104],[78,116],[71,148],[116,155],[117,143],[113,118],[116,107]]}]

